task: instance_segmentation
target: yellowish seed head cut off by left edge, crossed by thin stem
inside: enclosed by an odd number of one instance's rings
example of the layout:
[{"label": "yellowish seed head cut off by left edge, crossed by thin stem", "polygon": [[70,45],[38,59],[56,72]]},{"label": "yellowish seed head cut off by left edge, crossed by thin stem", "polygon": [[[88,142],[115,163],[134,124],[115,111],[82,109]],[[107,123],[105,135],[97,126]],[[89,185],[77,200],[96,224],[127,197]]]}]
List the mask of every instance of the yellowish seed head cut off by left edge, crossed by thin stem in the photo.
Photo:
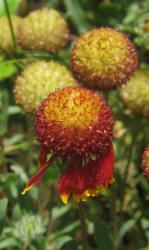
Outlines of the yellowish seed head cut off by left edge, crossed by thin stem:
[{"label": "yellowish seed head cut off by left edge, crossed by thin stem", "polygon": [[[14,33],[16,35],[17,27],[21,22],[21,17],[11,16]],[[10,32],[8,18],[6,16],[0,17],[0,46],[5,49],[9,54],[14,52],[14,44]],[[0,50],[0,53],[3,51]]]}]

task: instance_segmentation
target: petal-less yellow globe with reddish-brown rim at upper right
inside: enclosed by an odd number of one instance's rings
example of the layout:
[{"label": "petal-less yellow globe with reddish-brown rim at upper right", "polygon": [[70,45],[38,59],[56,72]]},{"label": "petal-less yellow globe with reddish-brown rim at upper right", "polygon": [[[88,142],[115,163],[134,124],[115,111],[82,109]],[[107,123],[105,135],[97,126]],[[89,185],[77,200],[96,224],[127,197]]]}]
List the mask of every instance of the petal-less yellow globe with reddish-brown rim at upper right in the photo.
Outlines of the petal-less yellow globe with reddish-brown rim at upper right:
[{"label": "petal-less yellow globe with reddish-brown rim at upper right", "polygon": [[111,28],[93,29],[82,35],[71,55],[75,77],[91,89],[116,88],[130,78],[137,65],[132,42]]}]

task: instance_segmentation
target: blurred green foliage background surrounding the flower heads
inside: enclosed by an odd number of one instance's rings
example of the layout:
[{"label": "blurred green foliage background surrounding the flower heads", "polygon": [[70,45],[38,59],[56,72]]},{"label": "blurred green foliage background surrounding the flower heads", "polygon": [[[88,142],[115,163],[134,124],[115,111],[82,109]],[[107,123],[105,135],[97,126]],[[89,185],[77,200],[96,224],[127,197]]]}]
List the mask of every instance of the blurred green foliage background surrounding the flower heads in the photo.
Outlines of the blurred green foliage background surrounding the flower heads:
[{"label": "blurred green foliage background surrounding the flower heads", "polygon": [[[149,16],[149,1],[131,0],[7,0],[11,14],[22,17],[48,7],[59,10],[71,34],[80,36],[96,27],[113,27],[135,43],[139,63],[149,63],[149,34],[141,30]],[[0,1],[0,16],[6,15]],[[58,57],[68,68],[74,41]],[[28,53],[26,59],[43,59]],[[51,55],[46,55],[50,60]],[[78,250],[82,233],[78,206],[63,205],[57,194],[57,161],[40,185],[21,196],[37,170],[39,145],[34,139],[34,117],[15,104],[13,86],[24,64],[22,55],[0,56],[0,249]],[[19,67],[18,67],[19,66]],[[20,67],[21,66],[21,67]],[[88,250],[149,250],[149,185],[141,169],[142,153],[149,144],[148,117],[133,115],[111,91],[108,103],[115,116],[116,182],[99,197],[84,204]]]}]

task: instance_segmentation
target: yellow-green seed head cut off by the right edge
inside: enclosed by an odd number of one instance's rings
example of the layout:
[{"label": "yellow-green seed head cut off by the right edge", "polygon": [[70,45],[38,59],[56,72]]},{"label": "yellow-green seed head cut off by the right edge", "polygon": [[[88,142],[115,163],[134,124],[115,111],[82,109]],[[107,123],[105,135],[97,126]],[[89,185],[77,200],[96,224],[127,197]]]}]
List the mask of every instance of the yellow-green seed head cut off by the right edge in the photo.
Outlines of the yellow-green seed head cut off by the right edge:
[{"label": "yellow-green seed head cut off by the right edge", "polygon": [[120,97],[124,105],[133,113],[149,115],[149,68],[140,68],[122,86]]}]

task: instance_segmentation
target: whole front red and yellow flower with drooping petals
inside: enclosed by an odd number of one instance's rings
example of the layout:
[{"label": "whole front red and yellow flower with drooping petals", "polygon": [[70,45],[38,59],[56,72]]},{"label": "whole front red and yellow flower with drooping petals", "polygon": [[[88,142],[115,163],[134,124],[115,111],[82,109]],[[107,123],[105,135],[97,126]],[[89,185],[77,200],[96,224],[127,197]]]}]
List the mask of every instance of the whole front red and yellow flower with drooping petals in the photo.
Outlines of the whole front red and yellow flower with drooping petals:
[{"label": "whole front red and yellow flower with drooping petals", "polygon": [[41,168],[22,193],[40,182],[57,156],[69,162],[58,184],[64,203],[70,196],[86,201],[106,189],[114,181],[113,123],[107,103],[91,90],[68,87],[51,93],[35,119]]}]

